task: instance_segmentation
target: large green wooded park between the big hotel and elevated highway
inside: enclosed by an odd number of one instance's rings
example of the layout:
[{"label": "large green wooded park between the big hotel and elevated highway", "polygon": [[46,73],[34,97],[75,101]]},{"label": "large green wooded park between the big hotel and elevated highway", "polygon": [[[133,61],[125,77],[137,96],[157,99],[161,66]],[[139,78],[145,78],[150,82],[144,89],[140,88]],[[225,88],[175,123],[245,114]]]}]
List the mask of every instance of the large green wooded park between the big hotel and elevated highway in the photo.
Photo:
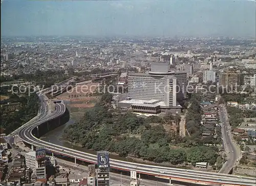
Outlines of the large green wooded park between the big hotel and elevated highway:
[{"label": "large green wooded park between the big hotel and elevated highway", "polygon": [[176,131],[168,131],[164,124],[170,121],[179,123],[179,116],[166,114],[164,117],[139,117],[131,112],[123,113],[112,109],[112,95],[103,94],[94,108],[70,125],[63,139],[80,144],[92,150],[108,150],[119,156],[137,157],[156,163],[208,162],[214,165],[218,148],[205,146],[201,139],[200,96],[192,96],[188,112],[188,131],[191,137],[180,137]]}]

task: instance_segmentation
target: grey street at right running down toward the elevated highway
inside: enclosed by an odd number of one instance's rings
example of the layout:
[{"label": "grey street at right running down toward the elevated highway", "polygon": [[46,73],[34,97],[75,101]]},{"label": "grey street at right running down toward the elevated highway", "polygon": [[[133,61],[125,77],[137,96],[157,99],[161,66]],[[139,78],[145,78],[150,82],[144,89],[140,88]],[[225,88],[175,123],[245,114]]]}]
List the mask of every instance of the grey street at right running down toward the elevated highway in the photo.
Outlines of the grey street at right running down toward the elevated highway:
[{"label": "grey street at right running down toward the elevated highway", "polygon": [[226,151],[227,162],[223,165],[219,173],[229,173],[232,167],[237,163],[240,156],[240,150],[235,142],[232,141],[231,126],[228,122],[228,115],[225,106],[220,105],[219,117],[221,122],[221,131],[223,139],[223,147]]}]

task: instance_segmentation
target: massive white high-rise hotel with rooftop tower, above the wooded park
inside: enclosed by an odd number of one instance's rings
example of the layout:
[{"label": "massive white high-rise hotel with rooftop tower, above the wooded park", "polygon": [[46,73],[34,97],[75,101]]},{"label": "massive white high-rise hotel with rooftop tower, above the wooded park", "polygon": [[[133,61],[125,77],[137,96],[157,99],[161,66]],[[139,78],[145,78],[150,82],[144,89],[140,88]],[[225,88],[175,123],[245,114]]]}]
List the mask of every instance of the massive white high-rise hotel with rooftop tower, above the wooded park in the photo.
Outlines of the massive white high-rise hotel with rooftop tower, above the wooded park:
[{"label": "massive white high-rise hotel with rooftop tower, above the wooded park", "polygon": [[184,98],[186,93],[177,93],[177,85],[184,82],[186,73],[168,71],[168,63],[152,63],[148,73],[129,73],[128,97],[118,102],[119,107],[131,107],[135,112],[151,114],[180,112],[177,96]]}]

